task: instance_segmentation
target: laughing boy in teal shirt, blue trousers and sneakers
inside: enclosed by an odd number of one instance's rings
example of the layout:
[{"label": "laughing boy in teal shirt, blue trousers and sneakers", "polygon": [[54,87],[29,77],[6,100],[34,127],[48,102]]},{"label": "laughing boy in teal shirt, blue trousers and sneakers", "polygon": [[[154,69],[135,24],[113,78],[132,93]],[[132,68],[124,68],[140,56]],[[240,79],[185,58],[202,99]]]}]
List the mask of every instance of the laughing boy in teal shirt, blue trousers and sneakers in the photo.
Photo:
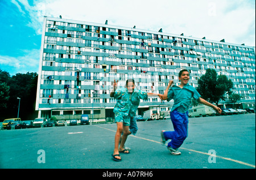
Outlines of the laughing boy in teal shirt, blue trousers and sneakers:
[{"label": "laughing boy in teal shirt, blue trousers and sneakers", "polygon": [[166,91],[162,95],[163,100],[170,101],[174,99],[174,106],[172,106],[170,116],[171,121],[174,126],[174,131],[162,131],[161,138],[163,145],[166,143],[166,140],[171,139],[171,142],[168,143],[167,148],[172,155],[180,155],[178,148],[183,144],[185,138],[188,135],[188,108],[191,104],[191,98],[200,103],[212,107],[216,110],[217,113],[221,113],[221,109],[217,106],[210,104],[200,97],[199,93],[194,87],[188,84],[189,72],[188,70],[181,70],[179,72],[180,85],[172,86],[173,81],[170,80]]}]

